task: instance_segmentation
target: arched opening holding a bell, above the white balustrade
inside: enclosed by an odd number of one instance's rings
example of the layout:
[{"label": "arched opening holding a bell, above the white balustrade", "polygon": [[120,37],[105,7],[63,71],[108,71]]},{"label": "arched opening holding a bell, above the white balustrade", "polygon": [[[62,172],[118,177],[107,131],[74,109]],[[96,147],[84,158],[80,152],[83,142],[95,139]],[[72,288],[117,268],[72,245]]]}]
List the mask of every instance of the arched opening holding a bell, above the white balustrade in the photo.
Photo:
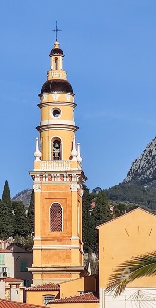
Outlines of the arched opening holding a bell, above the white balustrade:
[{"label": "arched opening holding a bell, above the white balustrade", "polygon": [[50,160],[62,160],[62,142],[57,136],[50,140]]}]

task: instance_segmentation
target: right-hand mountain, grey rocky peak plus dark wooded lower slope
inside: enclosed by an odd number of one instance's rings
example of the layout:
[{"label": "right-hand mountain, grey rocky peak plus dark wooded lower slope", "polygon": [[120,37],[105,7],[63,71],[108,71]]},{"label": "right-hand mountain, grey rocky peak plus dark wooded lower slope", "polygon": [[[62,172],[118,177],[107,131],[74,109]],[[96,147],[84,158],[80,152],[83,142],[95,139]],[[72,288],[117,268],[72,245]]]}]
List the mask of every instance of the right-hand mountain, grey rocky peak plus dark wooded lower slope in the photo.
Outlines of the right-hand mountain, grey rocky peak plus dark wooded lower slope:
[{"label": "right-hand mountain, grey rocky peak plus dark wooded lower slope", "polygon": [[125,180],[106,190],[111,201],[123,201],[156,209],[156,137],[136,158]]}]

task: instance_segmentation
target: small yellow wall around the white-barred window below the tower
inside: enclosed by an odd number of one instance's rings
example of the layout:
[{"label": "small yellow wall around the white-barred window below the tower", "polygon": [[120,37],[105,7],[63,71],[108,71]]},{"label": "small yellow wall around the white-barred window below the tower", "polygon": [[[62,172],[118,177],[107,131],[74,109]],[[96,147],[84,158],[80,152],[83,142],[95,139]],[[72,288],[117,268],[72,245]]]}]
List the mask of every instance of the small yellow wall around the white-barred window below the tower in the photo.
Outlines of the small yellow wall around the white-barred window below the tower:
[{"label": "small yellow wall around the white-barred window below the tower", "polygon": [[27,291],[27,304],[43,305],[45,295],[54,295],[59,298],[59,291]]}]

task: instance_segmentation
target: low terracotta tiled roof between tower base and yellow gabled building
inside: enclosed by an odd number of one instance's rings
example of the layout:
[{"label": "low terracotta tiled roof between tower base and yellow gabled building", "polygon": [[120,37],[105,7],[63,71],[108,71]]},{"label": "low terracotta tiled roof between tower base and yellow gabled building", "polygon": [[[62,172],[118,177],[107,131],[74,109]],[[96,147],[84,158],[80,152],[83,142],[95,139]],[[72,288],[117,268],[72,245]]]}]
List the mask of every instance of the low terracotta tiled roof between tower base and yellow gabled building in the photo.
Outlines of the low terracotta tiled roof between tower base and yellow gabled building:
[{"label": "low terracotta tiled roof between tower base and yellow gabled building", "polygon": [[65,298],[54,299],[51,303],[99,303],[99,298],[92,292]]}]

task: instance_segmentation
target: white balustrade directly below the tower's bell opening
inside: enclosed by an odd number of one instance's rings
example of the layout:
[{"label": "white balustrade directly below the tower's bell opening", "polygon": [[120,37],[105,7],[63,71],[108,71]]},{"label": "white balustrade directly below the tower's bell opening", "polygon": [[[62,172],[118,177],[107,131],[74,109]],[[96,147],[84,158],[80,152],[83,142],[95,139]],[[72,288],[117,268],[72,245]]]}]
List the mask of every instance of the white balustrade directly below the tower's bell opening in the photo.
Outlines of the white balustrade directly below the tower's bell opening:
[{"label": "white balustrade directly below the tower's bell opening", "polygon": [[71,161],[41,161],[40,163],[41,171],[70,171]]}]

